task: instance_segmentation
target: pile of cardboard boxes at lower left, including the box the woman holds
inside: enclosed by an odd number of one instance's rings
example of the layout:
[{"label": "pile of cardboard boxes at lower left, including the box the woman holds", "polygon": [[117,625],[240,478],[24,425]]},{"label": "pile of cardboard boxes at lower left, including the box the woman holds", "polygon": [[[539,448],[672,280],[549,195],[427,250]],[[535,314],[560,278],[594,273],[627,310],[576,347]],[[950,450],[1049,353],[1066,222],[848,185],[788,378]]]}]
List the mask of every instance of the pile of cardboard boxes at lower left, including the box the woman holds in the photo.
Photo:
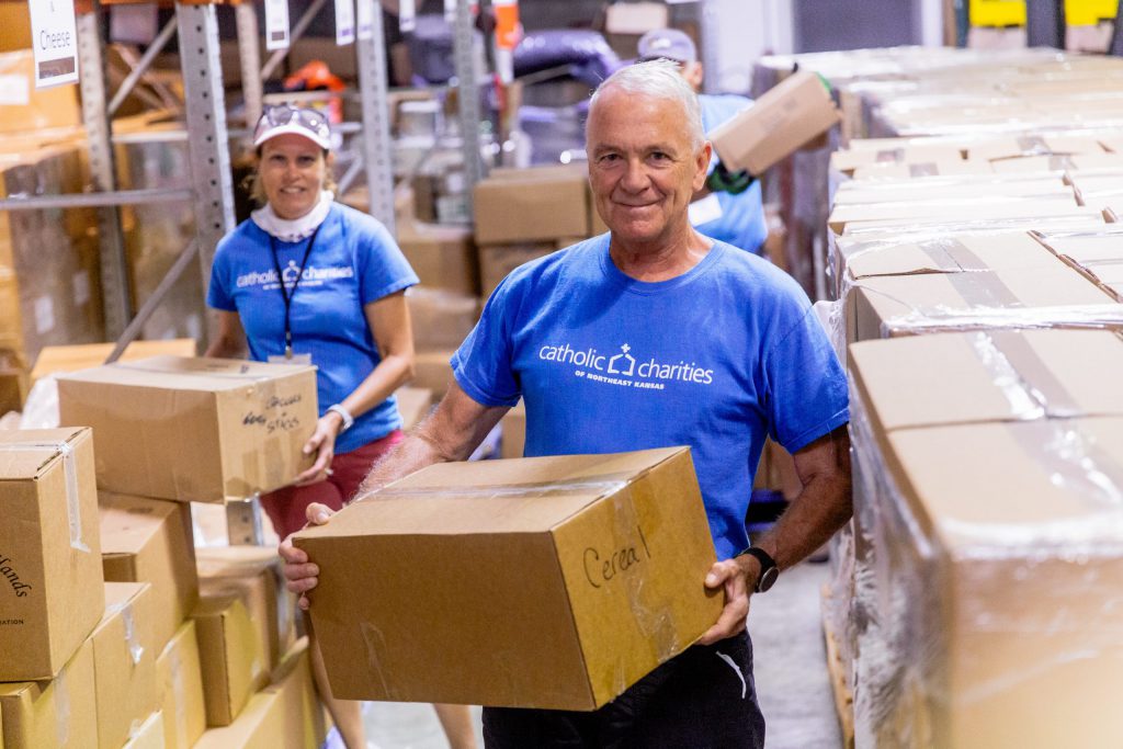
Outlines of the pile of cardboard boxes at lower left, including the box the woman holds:
[{"label": "pile of cardboard boxes at lower left, including the box the woman holds", "polygon": [[4,747],[319,747],[272,548],[195,549],[191,502],[289,483],[314,369],[157,356],[58,375],[0,432]]}]

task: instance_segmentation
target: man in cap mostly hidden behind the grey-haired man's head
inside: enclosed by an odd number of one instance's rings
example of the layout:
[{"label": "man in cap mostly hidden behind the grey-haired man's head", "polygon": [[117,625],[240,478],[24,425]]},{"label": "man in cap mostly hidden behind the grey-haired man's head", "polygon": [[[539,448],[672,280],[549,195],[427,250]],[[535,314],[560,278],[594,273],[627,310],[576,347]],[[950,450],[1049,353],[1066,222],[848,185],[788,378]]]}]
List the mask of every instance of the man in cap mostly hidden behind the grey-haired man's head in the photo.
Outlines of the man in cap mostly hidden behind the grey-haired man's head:
[{"label": "man in cap mostly hidden behind the grey-haired man's head", "polygon": [[[697,58],[697,49],[691,37],[678,29],[661,28],[648,31],[639,39],[639,60],[670,60],[678,64],[679,73],[695,91],[702,90],[702,63]],[[712,131],[715,127],[732,119],[738,112],[752,106],[752,101],[733,94],[712,95],[700,93],[702,106],[702,129]],[[718,167],[721,159],[714,154],[710,172]],[[733,247],[760,254],[760,248],[768,238],[768,226],[760,202],[760,183],[754,182],[742,192],[731,193],[727,190],[702,190],[695,194],[691,203],[691,225],[713,239],[728,241]]]}]

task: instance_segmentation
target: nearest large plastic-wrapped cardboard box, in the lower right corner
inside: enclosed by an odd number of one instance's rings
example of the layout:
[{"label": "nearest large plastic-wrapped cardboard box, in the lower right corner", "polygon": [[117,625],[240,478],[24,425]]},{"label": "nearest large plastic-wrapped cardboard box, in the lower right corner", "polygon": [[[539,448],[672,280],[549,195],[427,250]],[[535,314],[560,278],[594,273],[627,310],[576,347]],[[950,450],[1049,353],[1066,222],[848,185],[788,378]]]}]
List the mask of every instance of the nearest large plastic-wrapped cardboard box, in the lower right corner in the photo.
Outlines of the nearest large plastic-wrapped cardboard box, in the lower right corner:
[{"label": "nearest large plastic-wrapped cardboard box, in the lower right corner", "polygon": [[988,329],[850,357],[856,574],[834,601],[859,742],[1111,743],[1123,341]]}]

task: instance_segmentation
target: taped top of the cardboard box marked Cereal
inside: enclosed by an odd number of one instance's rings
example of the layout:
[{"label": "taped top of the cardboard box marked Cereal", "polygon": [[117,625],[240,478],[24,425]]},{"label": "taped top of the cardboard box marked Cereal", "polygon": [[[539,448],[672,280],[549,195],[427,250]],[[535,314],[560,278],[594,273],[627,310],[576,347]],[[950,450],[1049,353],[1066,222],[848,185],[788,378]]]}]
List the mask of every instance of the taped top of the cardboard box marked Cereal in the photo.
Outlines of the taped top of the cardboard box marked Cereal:
[{"label": "taped top of the cardboard box marked Cereal", "polygon": [[298,538],[547,532],[688,448],[437,464],[347,506],[346,528]]}]

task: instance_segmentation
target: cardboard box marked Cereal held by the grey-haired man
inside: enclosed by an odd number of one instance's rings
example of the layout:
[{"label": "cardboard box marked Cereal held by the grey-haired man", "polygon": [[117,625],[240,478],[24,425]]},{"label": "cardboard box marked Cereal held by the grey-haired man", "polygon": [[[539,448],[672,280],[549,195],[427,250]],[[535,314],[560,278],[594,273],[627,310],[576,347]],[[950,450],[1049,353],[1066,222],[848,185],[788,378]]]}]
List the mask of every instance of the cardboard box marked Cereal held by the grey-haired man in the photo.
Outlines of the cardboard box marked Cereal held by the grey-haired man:
[{"label": "cardboard box marked Cereal held by the grey-haired man", "polygon": [[[435,465],[294,544],[347,700],[594,710],[722,608],[687,448]],[[458,563],[418,587],[418,555]]]}]

